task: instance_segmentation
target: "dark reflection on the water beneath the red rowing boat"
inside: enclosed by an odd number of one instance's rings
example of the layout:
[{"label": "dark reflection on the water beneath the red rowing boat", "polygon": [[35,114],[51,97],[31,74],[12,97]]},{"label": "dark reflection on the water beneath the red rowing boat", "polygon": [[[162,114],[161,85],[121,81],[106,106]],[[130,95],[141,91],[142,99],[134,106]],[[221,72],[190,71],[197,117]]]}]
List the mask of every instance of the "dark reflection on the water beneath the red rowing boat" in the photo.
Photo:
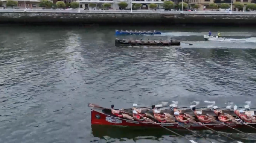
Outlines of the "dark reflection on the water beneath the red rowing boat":
[{"label": "dark reflection on the water beneath the red rowing boat", "polygon": [[[128,139],[133,139],[136,140],[136,138],[145,138],[145,137],[151,137],[155,138],[155,140],[158,140],[159,138],[162,138],[163,136],[169,136],[169,137],[175,137],[177,135],[171,133],[170,131],[167,131],[164,128],[147,128],[147,127],[120,127],[120,126],[103,126],[103,125],[91,125],[92,127],[92,134],[94,137],[99,137],[99,138],[116,138],[116,139],[122,139],[122,138],[128,138]],[[248,129],[247,129],[248,130]],[[249,129],[252,132],[255,132],[254,129]],[[187,138],[193,138],[193,137],[198,137],[195,134],[193,134],[190,131],[187,130],[177,130],[177,129],[172,129],[172,131],[185,136]],[[241,131],[245,131],[245,129],[241,129]],[[227,142],[232,142],[231,139],[219,135],[216,132],[212,132],[210,130],[203,130],[203,131],[194,131],[200,135],[202,135],[205,138],[211,138],[212,140],[225,140]],[[241,134],[239,132],[236,132],[234,130],[222,130],[220,131],[221,133],[224,133],[228,135],[229,137],[250,143],[250,138],[247,138],[246,135]],[[226,133],[225,133],[226,132]],[[216,138],[217,137],[217,138]]]}]

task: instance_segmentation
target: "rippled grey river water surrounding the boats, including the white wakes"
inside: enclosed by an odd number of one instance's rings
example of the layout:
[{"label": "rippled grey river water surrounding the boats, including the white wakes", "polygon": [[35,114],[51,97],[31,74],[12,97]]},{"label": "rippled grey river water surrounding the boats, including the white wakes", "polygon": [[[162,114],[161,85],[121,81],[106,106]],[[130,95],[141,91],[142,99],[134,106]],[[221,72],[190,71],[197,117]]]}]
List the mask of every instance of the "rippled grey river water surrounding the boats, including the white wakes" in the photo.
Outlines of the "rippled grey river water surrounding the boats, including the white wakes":
[{"label": "rippled grey river water surrounding the boats, including the white wakes", "polygon": [[[157,27],[119,27],[154,30]],[[115,36],[115,27],[1,26],[1,143],[186,143],[165,131],[91,127],[88,102],[256,103],[256,32],[246,28],[158,27],[161,36]],[[203,40],[222,30],[226,42]],[[178,47],[115,47],[115,38],[178,39]],[[227,138],[203,131],[215,143]],[[199,143],[207,141],[192,135]],[[255,140],[229,134],[245,143]]]}]

